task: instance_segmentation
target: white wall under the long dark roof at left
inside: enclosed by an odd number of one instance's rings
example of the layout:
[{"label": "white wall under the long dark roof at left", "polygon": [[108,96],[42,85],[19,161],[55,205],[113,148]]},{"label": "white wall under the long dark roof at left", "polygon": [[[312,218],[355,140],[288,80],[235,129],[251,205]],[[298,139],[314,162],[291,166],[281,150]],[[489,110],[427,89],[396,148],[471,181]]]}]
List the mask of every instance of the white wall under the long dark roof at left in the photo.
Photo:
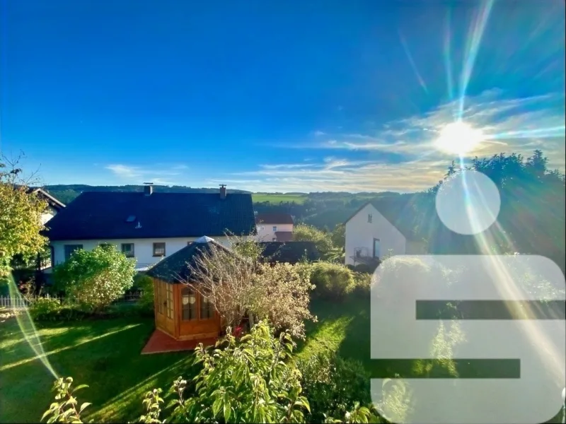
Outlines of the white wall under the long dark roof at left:
[{"label": "white wall under the long dark roof at left", "polygon": [[[149,266],[156,264],[163,257],[154,257],[154,243],[165,242],[165,257],[178,252],[187,246],[187,242],[192,242],[200,237],[175,237],[161,239],[116,239],[116,240],[64,240],[53,241],[54,264],[61,264],[65,261],[65,245],[83,245],[83,249],[92,250],[96,246],[108,243],[115,245],[119,252],[122,251],[122,243],[134,244],[134,257],[137,259],[137,266]],[[217,242],[229,247],[227,237],[211,237]]]}]

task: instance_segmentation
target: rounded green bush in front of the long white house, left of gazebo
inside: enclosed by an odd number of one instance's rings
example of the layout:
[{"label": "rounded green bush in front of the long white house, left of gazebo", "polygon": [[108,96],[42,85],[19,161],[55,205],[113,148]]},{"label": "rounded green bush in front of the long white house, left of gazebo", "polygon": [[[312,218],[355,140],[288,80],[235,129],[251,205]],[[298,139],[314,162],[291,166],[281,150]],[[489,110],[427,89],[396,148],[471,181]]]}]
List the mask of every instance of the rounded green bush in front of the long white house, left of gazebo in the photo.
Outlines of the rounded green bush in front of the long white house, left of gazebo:
[{"label": "rounded green bush in front of the long white house, left of gazebo", "polygon": [[55,266],[53,278],[71,302],[86,310],[100,311],[132,287],[134,262],[113,246],[79,249]]}]

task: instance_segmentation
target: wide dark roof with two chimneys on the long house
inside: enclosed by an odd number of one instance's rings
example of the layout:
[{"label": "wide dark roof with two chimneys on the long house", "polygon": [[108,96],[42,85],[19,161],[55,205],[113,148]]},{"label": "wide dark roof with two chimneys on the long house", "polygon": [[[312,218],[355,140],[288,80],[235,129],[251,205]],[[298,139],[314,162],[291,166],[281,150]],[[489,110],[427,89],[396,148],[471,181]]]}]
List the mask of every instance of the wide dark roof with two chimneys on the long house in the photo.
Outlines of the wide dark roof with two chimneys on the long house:
[{"label": "wide dark roof with two chimneys on the long house", "polygon": [[240,193],[83,192],[47,226],[50,240],[255,234],[252,196]]}]

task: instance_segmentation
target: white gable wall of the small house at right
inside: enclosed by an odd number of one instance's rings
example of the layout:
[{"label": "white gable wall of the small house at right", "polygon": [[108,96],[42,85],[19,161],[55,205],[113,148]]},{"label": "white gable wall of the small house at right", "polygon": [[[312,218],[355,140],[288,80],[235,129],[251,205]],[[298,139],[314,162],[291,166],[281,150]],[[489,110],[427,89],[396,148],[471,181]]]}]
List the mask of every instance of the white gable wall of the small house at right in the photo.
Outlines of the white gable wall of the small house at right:
[{"label": "white gable wall of the small house at right", "polygon": [[[371,223],[367,222],[369,213]],[[346,223],[346,264],[354,264],[351,257],[359,247],[365,247],[367,256],[373,256],[374,238],[381,242],[381,257],[388,254],[389,249],[393,249],[393,254],[405,254],[405,236],[373,205],[367,204]]]}]

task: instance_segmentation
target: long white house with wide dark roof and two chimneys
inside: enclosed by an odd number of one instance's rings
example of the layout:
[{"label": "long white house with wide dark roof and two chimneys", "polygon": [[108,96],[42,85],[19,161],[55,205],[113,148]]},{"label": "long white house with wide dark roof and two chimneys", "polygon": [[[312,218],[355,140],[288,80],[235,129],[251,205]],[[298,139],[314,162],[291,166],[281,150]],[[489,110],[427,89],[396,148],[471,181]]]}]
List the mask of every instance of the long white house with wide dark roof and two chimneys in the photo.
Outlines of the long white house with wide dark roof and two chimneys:
[{"label": "long white house with wide dark roof and two chimneys", "polygon": [[255,235],[251,194],[83,192],[49,221],[52,264],[76,249],[115,245],[144,271],[204,235],[228,245],[226,233]]}]

